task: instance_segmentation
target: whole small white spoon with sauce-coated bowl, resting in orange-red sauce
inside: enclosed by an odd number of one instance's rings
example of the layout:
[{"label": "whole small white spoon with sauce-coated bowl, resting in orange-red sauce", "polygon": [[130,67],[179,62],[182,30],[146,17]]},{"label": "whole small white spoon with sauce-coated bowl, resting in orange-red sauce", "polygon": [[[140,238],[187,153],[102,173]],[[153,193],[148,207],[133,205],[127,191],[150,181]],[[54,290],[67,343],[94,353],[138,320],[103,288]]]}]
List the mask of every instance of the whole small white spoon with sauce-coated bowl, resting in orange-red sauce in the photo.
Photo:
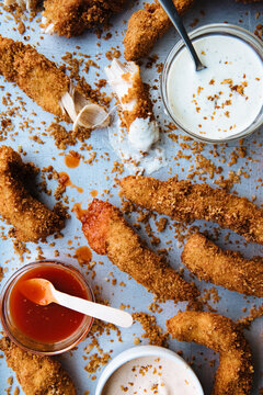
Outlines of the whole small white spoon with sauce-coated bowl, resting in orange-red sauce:
[{"label": "whole small white spoon with sauce-coated bowl, resting in orange-red sauce", "polygon": [[76,312],[105,320],[123,328],[128,328],[133,325],[133,317],[129,313],[57,291],[50,281],[45,279],[25,280],[21,283],[20,291],[31,302],[42,306],[57,303]]}]

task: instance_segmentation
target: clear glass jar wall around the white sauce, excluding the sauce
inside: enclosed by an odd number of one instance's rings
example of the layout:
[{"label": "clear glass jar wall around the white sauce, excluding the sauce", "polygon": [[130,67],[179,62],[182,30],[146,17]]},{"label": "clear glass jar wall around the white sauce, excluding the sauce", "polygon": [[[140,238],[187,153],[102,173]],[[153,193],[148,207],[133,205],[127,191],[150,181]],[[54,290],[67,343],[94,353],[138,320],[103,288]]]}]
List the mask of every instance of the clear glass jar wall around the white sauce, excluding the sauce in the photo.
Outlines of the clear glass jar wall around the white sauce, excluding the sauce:
[{"label": "clear glass jar wall around the white sauce, excluding the sauce", "polygon": [[[194,30],[192,33],[188,34],[191,40],[195,42],[195,40],[199,40],[202,37],[207,37],[210,35],[222,35],[222,36],[229,36],[233,38],[239,38],[245,44],[248,44],[260,57],[263,64],[263,42],[260,41],[254,34],[250,33],[249,31],[241,29],[236,25],[231,24],[224,24],[224,23],[216,23],[216,24],[209,24],[202,27],[198,27]],[[191,137],[204,142],[204,143],[227,143],[230,140],[236,140],[242,137],[247,137],[256,129],[259,129],[263,125],[263,102],[261,106],[261,111],[258,114],[258,116],[254,119],[254,121],[242,132],[228,136],[225,138],[209,138],[207,136],[201,136],[199,134],[195,133],[194,131],[188,129],[185,127],[185,125],[180,122],[176,116],[174,115],[174,112],[171,109],[171,105],[169,103],[169,95],[168,95],[168,77],[171,69],[171,66],[173,65],[176,56],[180,54],[180,52],[185,48],[185,45],[182,40],[180,40],[175,46],[172,48],[172,50],[169,53],[167,60],[164,63],[164,67],[161,75],[161,97],[162,102],[164,104],[164,111],[172,119],[175,126],[185,132]],[[192,61],[192,59],[191,59]],[[197,71],[202,72],[202,71]],[[262,82],[261,82],[262,83]]]}]

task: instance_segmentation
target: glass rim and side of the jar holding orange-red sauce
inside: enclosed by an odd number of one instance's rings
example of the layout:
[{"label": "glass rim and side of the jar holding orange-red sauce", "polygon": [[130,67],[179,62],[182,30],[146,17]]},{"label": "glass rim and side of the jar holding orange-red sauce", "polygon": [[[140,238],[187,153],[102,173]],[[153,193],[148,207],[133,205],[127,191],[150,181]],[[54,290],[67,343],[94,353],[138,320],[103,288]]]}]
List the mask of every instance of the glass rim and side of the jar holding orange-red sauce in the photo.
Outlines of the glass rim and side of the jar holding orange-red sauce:
[{"label": "glass rim and side of the jar holding orange-red sauce", "polygon": [[[9,313],[7,312],[7,307],[8,307],[7,304],[9,301],[10,292],[12,290],[12,286],[21,278],[21,275],[28,272],[31,269],[37,268],[38,266],[41,266],[43,263],[44,264],[50,263],[50,266],[56,264],[56,267],[66,268],[69,271],[73,271],[75,274],[77,275],[78,280],[81,281],[82,285],[85,287],[88,295],[91,296],[91,301],[95,302],[95,297],[94,297],[93,291],[92,291],[89,282],[85,280],[85,278],[82,275],[82,273],[77,268],[75,268],[70,263],[65,263],[65,262],[56,260],[56,259],[42,259],[42,260],[33,261],[33,262],[30,262],[30,263],[23,266],[22,268],[16,270],[7,280],[7,282],[4,283],[4,285],[1,290],[1,294],[0,294],[0,319],[1,319],[1,324],[2,324],[5,335],[16,346],[19,346],[23,350],[28,351],[31,353],[42,354],[42,356],[55,356],[55,354],[60,354],[62,352],[69,351],[72,348],[75,348],[88,335],[88,332],[90,331],[90,329],[92,327],[94,318],[90,317],[90,316],[83,317],[83,320],[81,321],[80,326],[76,329],[76,331],[71,336],[69,336],[60,341],[54,342],[54,343],[45,343],[45,342],[41,342],[41,341],[35,341],[33,339],[30,339],[28,337],[26,337],[26,335],[24,335],[22,332],[20,332],[21,334],[20,338],[18,338],[18,336],[15,336],[15,334],[12,331],[12,329],[10,328],[10,325],[8,323]],[[21,340],[21,338],[26,339],[27,343],[23,342]],[[39,349],[34,348],[33,345],[38,345]],[[45,349],[45,348],[47,348],[47,349]]]}]

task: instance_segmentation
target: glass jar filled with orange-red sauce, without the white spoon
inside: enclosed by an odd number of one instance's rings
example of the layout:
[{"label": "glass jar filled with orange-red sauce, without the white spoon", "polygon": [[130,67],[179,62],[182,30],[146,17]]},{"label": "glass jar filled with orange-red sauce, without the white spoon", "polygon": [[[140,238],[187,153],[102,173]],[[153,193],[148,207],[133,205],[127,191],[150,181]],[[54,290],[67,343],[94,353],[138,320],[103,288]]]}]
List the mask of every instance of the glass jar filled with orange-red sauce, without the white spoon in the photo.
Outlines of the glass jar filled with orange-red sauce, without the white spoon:
[{"label": "glass jar filled with orange-red sauce, without the white spoon", "polygon": [[37,261],[18,270],[1,293],[1,323],[18,346],[41,354],[58,354],[72,349],[89,332],[93,318],[52,303],[28,301],[20,291],[28,279],[49,280],[56,290],[94,301],[89,283],[72,266],[58,261]]}]

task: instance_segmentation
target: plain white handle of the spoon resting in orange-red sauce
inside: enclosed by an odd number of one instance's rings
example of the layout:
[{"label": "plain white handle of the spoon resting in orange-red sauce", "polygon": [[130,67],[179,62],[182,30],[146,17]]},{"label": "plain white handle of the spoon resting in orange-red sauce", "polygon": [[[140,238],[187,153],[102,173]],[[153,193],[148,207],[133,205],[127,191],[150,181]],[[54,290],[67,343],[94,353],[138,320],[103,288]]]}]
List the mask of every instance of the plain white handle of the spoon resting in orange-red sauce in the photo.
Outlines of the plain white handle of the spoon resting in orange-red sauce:
[{"label": "plain white handle of the spoon resting in orange-red sauce", "polygon": [[57,290],[53,291],[53,295],[56,300],[56,303],[59,305],[89,315],[91,317],[105,320],[123,328],[128,328],[133,324],[132,315],[118,308],[104,306],[102,304],[90,302],[81,297],[71,296]]}]

